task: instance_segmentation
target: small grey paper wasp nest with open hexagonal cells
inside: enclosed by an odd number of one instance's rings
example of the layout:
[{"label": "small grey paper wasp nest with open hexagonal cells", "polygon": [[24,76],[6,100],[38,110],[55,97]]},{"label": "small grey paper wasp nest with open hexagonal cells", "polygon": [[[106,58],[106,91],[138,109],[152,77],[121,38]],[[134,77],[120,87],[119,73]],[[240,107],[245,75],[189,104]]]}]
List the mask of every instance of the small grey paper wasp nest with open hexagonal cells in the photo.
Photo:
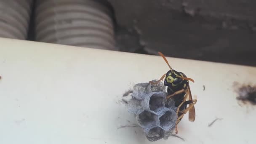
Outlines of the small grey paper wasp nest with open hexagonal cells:
[{"label": "small grey paper wasp nest with open hexagonal cells", "polygon": [[[153,80],[156,81],[156,80]],[[174,101],[166,100],[163,83],[134,85],[132,98],[126,101],[128,111],[135,114],[138,125],[143,128],[149,141],[168,139],[177,119]]]}]

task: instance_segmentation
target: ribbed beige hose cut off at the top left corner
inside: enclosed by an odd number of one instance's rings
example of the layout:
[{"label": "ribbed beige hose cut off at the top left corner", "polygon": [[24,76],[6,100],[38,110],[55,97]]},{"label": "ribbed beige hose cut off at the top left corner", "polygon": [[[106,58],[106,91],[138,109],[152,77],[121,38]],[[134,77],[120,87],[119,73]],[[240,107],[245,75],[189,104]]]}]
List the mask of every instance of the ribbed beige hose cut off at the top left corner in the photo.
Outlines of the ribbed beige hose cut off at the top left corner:
[{"label": "ribbed beige hose cut off at the top left corner", "polygon": [[0,0],[0,37],[26,40],[32,0]]}]

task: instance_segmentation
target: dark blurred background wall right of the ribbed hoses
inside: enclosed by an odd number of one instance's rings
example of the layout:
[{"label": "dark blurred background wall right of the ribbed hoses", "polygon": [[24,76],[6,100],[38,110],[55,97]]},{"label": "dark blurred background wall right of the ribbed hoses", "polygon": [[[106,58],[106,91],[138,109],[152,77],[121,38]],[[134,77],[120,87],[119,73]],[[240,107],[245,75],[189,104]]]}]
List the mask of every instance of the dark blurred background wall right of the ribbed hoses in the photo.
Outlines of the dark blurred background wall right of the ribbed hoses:
[{"label": "dark blurred background wall right of the ribbed hoses", "polygon": [[256,0],[109,0],[120,51],[256,66]]}]

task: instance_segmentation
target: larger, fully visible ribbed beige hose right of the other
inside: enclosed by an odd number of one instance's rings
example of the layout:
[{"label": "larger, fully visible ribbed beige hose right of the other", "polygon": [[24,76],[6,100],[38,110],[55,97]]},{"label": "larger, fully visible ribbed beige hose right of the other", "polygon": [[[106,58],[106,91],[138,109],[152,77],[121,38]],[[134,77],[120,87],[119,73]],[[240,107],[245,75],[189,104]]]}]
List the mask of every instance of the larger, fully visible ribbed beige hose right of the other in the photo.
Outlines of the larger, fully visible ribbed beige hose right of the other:
[{"label": "larger, fully visible ribbed beige hose right of the other", "polygon": [[115,50],[111,12],[99,0],[37,0],[36,41]]}]

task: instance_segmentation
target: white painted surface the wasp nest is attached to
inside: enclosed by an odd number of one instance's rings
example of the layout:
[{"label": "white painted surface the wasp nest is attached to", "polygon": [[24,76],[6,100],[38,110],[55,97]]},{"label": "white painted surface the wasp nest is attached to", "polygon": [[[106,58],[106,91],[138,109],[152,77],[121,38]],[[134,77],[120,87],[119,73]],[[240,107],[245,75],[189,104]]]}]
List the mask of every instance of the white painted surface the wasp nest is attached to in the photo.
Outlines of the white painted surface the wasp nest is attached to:
[{"label": "white painted surface the wasp nest is attached to", "polygon": [[[120,103],[134,84],[160,78],[160,56],[0,39],[0,144],[149,144]],[[185,139],[155,144],[256,144],[256,110],[240,107],[232,84],[256,83],[256,68],[168,58],[195,80],[196,119]],[[205,85],[205,91],[203,91]],[[218,120],[211,127],[216,117]],[[130,121],[130,123],[128,122]]]}]

